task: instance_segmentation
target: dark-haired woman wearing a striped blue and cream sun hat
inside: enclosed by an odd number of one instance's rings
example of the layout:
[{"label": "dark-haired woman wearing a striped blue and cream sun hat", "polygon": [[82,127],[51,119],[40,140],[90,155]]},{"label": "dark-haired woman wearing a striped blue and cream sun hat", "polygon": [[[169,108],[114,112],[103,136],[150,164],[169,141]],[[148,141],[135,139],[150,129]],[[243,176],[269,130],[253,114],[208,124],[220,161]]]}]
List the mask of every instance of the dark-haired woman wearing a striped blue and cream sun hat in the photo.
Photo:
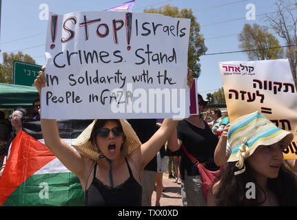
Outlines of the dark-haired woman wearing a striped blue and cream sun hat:
[{"label": "dark-haired woman wearing a striped blue and cream sun hat", "polygon": [[[225,173],[209,190],[209,206],[297,206],[296,176],[283,165],[283,150],[293,134],[258,111],[234,120]],[[255,186],[254,197],[247,190]]]}]

